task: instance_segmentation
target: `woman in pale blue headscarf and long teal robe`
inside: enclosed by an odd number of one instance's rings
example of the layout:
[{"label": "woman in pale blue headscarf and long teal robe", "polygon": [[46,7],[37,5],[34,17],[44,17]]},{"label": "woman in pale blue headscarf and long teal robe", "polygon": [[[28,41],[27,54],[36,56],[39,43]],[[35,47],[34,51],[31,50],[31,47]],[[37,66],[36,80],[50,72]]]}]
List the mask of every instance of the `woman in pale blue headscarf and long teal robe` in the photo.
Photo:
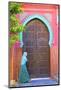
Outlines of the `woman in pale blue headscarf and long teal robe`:
[{"label": "woman in pale blue headscarf and long teal robe", "polygon": [[30,80],[29,73],[26,67],[26,62],[27,62],[27,52],[24,52],[22,56],[21,69],[19,72],[19,82],[20,83],[26,83]]}]

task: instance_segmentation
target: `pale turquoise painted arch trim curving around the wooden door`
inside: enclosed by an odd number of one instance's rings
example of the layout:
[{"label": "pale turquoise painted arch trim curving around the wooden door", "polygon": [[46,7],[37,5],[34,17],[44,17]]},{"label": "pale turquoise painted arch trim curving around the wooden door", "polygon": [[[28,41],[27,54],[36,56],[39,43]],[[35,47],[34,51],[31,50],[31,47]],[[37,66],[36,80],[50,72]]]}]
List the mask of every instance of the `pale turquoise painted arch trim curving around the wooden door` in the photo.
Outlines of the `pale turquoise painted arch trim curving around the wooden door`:
[{"label": "pale turquoise painted arch trim curving around the wooden door", "polygon": [[[46,20],[46,18],[44,16],[41,16],[41,15],[31,15],[31,16],[28,16],[25,21],[23,22],[23,26],[26,26],[26,24],[33,20],[33,19],[39,19],[40,21],[42,21],[48,28],[48,32],[49,32],[49,47],[52,46],[52,43],[53,43],[53,31],[52,31],[52,28],[51,28],[51,25],[49,24],[48,20]],[[20,32],[19,33],[20,36],[21,36],[21,41],[23,42],[23,32]],[[32,80],[33,78],[31,78]],[[36,78],[35,78],[36,79]]]}]

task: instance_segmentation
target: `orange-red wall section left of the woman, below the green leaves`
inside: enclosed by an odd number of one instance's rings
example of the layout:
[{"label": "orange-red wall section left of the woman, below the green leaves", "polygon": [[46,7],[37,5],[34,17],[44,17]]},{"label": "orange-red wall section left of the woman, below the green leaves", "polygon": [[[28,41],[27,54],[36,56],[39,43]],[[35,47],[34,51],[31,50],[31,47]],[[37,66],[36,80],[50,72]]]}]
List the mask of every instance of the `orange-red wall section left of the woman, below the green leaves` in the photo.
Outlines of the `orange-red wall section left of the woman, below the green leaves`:
[{"label": "orange-red wall section left of the woman, below the green leaves", "polygon": [[22,58],[22,48],[14,47],[14,45],[10,48],[10,80],[18,80],[20,63]]}]

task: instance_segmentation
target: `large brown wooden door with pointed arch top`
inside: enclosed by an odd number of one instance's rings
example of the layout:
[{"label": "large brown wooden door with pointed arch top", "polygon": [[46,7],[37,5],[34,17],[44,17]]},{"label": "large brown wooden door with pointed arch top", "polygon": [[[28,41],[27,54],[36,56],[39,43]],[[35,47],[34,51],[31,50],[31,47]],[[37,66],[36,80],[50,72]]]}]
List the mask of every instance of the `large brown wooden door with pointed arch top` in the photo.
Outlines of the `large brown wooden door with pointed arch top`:
[{"label": "large brown wooden door with pointed arch top", "polygon": [[26,24],[23,32],[23,52],[28,53],[27,68],[30,78],[50,76],[49,31],[39,19],[34,18]]}]

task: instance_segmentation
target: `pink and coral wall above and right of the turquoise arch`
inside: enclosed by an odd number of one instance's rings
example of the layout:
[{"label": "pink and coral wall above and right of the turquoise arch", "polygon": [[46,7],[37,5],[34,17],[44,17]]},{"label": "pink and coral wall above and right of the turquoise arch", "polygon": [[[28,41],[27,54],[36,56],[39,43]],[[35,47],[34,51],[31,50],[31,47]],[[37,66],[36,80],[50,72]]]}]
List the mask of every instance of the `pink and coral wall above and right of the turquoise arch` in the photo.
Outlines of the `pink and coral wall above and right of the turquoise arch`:
[{"label": "pink and coral wall above and right of the turquoise arch", "polygon": [[23,4],[22,10],[24,11],[22,14],[18,14],[17,18],[19,18],[19,22],[23,23],[28,16],[39,14],[44,16],[51,25],[53,31],[53,44],[50,47],[50,73],[51,77],[57,78],[58,76],[58,22],[57,22],[57,5],[30,5]]}]

